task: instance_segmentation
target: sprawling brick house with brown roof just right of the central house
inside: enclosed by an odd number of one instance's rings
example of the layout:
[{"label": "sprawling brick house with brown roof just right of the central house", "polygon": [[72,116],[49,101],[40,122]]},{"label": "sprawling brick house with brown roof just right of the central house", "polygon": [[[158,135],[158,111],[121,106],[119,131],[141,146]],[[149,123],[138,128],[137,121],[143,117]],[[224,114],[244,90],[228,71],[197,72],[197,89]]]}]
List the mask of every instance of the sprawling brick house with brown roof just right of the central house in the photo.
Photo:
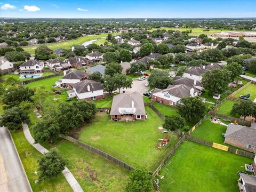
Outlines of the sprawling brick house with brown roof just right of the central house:
[{"label": "sprawling brick house with brown roof just right of the central house", "polygon": [[166,105],[175,107],[180,99],[196,97],[199,93],[199,90],[187,85],[169,85],[164,90],[155,88],[152,92],[151,99],[162,101]]}]

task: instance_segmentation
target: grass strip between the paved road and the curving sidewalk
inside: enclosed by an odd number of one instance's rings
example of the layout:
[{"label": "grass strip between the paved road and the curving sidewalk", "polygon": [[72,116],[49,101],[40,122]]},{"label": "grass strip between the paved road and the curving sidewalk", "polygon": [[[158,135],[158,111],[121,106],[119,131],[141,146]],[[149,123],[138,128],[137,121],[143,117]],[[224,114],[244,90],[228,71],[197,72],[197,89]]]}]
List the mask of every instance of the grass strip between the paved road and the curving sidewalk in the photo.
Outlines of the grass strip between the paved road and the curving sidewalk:
[{"label": "grass strip between the paved road and the curving sidewalk", "polygon": [[11,131],[11,134],[33,191],[73,191],[62,174],[58,178],[36,184],[38,175],[35,175],[35,171],[38,172],[37,161],[42,154],[30,145],[22,130]]}]

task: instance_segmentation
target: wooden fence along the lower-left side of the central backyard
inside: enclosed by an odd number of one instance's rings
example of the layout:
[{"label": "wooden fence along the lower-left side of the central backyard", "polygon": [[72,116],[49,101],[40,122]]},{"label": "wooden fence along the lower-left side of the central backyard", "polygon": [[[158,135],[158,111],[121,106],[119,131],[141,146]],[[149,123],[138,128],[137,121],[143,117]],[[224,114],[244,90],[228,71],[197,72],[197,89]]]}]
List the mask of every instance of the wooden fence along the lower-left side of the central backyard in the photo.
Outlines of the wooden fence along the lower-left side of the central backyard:
[{"label": "wooden fence along the lower-left side of the central backyard", "polygon": [[119,160],[119,159],[117,159],[117,158],[115,158],[115,157],[113,157],[113,156],[111,156],[111,155],[109,155],[109,154],[107,154],[107,153],[105,153],[105,152],[95,148],[95,147],[92,147],[92,146],[87,145],[87,144],[85,144],[85,143],[83,143],[81,141],[78,141],[78,140],[76,140],[73,137],[69,137],[68,135],[63,135],[63,134],[60,134],[60,137],[63,138],[63,139],[66,139],[66,140],[68,140],[68,141],[70,141],[72,143],[74,143],[77,146],[80,146],[80,147],[83,147],[83,148],[85,148],[87,150],[90,150],[93,153],[98,154],[98,155],[108,159],[109,161],[111,161],[113,163],[121,165],[122,167],[124,167],[127,170],[133,170],[134,169],[134,167],[124,163],[123,161],[121,161],[121,160]]}]

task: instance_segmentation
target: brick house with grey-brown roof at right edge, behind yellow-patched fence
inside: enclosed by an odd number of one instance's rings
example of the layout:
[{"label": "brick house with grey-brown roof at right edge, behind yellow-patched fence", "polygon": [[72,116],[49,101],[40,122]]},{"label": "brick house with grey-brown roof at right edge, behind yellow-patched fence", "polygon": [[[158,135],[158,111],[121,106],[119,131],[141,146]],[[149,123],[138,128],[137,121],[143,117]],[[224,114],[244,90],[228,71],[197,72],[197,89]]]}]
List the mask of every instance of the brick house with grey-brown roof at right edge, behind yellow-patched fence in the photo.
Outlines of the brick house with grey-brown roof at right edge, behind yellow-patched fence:
[{"label": "brick house with grey-brown roof at right edge, behind yellow-patched fence", "polygon": [[256,129],[253,127],[229,124],[224,137],[224,143],[256,152]]}]

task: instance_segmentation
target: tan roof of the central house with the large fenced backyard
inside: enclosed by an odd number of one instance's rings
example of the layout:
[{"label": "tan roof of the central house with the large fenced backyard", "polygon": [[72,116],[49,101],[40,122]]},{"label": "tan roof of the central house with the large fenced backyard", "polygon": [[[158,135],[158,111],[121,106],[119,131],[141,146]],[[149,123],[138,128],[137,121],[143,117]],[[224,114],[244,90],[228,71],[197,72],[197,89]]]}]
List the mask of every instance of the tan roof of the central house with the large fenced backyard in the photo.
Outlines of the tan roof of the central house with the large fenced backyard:
[{"label": "tan roof of the central house with the large fenced backyard", "polygon": [[114,96],[110,115],[121,114],[146,115],[142,95],[135,91]]}]

